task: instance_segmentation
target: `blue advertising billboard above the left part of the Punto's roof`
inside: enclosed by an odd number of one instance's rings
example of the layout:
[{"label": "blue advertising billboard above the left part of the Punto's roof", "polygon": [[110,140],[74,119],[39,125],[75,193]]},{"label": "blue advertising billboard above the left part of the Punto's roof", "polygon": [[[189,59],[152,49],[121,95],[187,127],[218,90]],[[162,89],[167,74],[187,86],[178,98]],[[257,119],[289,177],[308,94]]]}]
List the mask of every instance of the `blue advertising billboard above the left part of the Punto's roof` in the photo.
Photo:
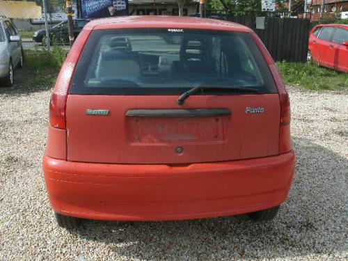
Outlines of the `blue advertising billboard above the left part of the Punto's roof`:
[{"label": "blue advertising billboard above the left part of the Punto's roof", "polygon": [[81,0],[83,18],[128,15],[128,0]]}]

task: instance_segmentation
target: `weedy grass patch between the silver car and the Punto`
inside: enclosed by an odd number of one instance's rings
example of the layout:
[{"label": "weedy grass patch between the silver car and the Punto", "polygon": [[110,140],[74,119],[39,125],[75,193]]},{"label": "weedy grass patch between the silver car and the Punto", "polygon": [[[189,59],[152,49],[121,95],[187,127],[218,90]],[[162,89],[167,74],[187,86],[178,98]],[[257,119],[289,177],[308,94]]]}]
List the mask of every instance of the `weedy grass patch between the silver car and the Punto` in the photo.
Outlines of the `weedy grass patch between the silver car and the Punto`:
[{"label": "weedy grass patch between the silver car and the Punto", "polygon": [[24,68],[15,71],[15,85],[20,88],[53,86],[66,53],[61,47],[45,50],[24,50]]}]

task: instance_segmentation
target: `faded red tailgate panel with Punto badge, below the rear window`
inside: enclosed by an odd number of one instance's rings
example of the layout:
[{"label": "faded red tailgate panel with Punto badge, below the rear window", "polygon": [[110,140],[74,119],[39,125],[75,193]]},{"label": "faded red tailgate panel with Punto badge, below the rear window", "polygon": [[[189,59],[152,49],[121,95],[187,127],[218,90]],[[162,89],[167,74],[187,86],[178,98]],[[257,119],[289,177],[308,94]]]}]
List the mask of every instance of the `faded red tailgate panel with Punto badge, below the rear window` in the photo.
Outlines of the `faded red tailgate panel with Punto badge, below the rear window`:
[{"label": "faded red tailgate panel with Punto badge, below the rear window", "polygon": [[189,164],[278,155],[278,94],[193,95],[184,106],[177,97],[68,95],[68,160]]}]

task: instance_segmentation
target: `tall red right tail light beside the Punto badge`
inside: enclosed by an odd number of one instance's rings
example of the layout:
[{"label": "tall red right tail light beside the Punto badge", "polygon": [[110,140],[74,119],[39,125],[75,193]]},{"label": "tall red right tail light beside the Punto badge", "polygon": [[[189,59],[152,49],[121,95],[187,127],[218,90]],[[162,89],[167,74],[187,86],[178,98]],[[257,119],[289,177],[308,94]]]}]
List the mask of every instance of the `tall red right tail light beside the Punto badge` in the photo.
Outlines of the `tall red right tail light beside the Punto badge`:
[{"label": "tall red right tail light beside the Punto badge", "polygon": [[262,56],[267,62],[269,70],[271,71],[274,83],[278,89],[279,101],[280,101],[280,136],[279,136],[279,153],[286,153],[292,150],[291,139],[290,139],[290,99],[285,88],[284,81],[280,76],[280,72],[274,63],[273,58],[267,51],[263,42],[258,38],[256,33],[251,33],[251,38],[260,49]]}]

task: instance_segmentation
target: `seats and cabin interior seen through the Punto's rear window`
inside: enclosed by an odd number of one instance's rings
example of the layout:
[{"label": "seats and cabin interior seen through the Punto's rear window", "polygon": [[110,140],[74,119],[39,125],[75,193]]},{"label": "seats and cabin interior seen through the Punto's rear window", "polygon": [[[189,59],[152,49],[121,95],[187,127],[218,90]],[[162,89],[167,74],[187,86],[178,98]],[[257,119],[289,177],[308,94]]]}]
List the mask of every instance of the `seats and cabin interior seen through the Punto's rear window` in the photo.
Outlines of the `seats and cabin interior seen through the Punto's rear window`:
[{"label": "seats and cabin interior seen through the Punto's rear window", "polygon": [[[230,41],[204,35],[185,35],[175,44],[158,36],[139,41],[137,38],[141,37],[107,35],[102,38],[89,63],[86,86],[102,81],[127,81],[135,86],[150,87],[156,83],[173,85],[198,79],[216,80],[216,77],[221,80],[234,77],[241,85],[251,81],[262,85],[255,60],[243,46],[245,42],[237,38],[232,40],[235,48],[230,48]],[[152,46],[154,42],[158,49]]]}]

